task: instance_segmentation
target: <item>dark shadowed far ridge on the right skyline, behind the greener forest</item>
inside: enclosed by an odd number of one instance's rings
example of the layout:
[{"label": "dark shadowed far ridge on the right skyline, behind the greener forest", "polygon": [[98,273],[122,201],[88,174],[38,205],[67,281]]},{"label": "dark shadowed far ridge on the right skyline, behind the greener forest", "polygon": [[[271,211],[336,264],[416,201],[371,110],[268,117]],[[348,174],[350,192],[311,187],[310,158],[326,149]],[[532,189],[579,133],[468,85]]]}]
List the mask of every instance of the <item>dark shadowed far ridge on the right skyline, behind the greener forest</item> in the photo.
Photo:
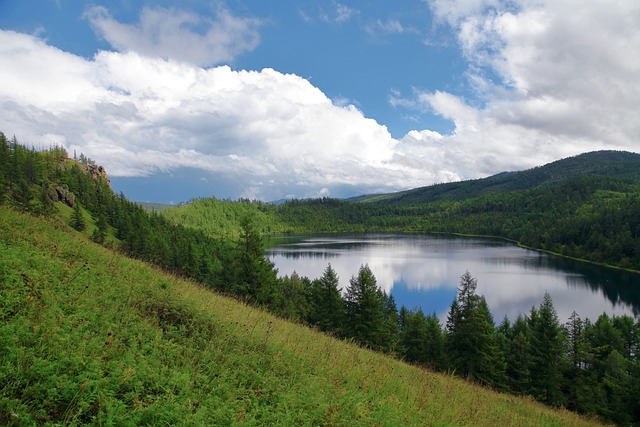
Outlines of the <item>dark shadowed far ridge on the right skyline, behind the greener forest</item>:
[{"label": "dark shadowed far ridge on the right skyline, behind the greener forest", "polygon": [[561,184],[583,177],[640,181],[640,154],[625,151],[594,151],[525,171],[502,172],[483,179],[435,184],[398,193],[362,196],[351,200],[406,205],[459,201],[487,194]]}]

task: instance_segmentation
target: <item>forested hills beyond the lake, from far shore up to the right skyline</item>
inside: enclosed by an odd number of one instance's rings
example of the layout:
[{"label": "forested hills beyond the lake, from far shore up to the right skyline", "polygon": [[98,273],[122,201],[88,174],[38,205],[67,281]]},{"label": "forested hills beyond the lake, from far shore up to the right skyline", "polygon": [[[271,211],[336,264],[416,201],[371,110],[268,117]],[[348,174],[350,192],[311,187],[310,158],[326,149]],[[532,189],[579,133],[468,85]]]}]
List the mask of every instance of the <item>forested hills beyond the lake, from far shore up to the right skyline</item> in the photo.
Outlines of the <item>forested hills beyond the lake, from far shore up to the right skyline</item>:
[{"label": "forested hills beyond the lake, from far shore up to the right skyline", "polygon": [[420,231],[488,235],[595,263],[640,270],[640,154],[587,153],[523,172],[397,194],[290,200],[282,205],[196,199],[163,211],[212,236]]}]

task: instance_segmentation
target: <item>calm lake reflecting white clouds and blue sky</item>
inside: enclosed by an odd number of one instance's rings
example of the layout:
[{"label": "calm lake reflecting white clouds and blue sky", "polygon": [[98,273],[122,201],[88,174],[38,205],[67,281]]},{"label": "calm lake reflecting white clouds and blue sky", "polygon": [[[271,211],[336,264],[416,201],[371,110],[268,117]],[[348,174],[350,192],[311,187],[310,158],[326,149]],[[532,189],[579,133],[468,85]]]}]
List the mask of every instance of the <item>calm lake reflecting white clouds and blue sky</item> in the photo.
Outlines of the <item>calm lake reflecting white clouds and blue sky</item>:
[{"label": "calm lake reflecting white clouds and blue sky", "polygon": [[640,313],[640,275],[567,260],[494,239],[443,235],[365,234],[272,237],[267,257],[281,276],[321,277],[329,263],[340,286],[369,264],[398,308],[422,307],[446,320],[460,276],[478,279],[496,323],[538,307],[545,291],[561,322],[575,310],[592,321],[606,312]]}]

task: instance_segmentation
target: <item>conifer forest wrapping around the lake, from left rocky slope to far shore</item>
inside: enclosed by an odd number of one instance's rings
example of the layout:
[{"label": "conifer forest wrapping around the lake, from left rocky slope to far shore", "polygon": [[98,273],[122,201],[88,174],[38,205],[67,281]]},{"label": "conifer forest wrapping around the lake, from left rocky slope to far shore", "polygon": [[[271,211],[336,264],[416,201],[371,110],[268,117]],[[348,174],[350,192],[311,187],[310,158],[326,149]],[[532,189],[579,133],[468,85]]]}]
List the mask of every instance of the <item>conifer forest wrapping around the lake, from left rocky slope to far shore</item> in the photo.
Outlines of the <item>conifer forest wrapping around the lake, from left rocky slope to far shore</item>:
[{"label": "conifer forest wrapping around the lake, from left rocky slope to far shore", "polygon": [[354,266],[346,289],[338,288],[330,265],[320,278],[278,277],[264,258],[261,236],[363,230],[488,234],[637,269],[640,195],[634,179],[570,177],[416,204],[381,198],[272,206],[203,199],[159,214],[113,194],[96,170],[82,155],[70,159],[59,147],[28,149],[0,134],[0,203],[45,216],[66,210],[68,223],[96,243],[407,362],[607,421],[640,422],[638,320],[603,314],[592,321],[577,313],[561,320],[547,295],[529,313],[496,324],[475,292],[472,274],[461,272],[458,296],[441,325],[433,314],[398,308],[366,265]]}]

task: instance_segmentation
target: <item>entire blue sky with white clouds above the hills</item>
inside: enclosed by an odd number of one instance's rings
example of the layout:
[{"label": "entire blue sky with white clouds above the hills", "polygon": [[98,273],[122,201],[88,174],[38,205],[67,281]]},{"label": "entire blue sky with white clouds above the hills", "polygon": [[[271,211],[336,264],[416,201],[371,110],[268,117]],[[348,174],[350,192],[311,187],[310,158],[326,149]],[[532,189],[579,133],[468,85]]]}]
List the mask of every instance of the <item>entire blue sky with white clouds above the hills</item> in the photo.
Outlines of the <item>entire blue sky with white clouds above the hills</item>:
[{"label": "entire blue sky with white clouds above the hills", "polygon": [[640,151],[637,0],[0,0],[0,131],[130,200],[351,197]]}]

